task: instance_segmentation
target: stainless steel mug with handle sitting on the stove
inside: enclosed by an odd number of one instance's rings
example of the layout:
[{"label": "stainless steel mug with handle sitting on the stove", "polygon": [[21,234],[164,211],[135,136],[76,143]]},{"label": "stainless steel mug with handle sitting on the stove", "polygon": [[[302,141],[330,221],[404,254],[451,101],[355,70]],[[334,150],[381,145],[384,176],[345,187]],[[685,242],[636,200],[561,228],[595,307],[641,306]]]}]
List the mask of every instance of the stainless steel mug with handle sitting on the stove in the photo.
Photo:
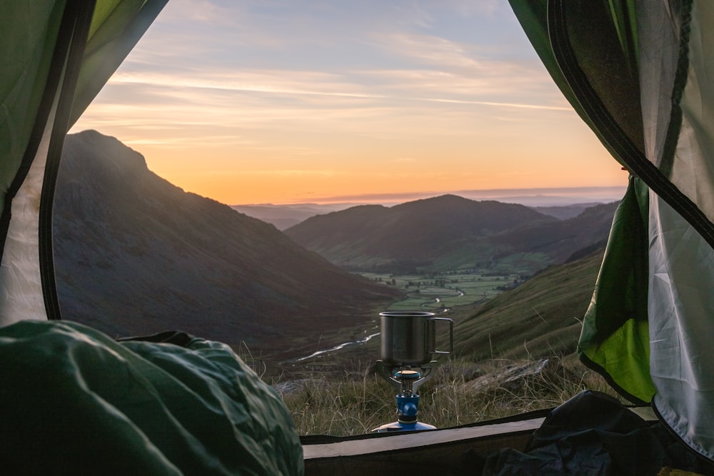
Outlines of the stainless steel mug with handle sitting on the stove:
[{"label": "stainless steel mug with handle sitting on the stove", "polygon": [[[419,367],[435,354],[453,351],[453,320],[421,311],[387,311],[381,320],[381,360],[387,365]],[[449,323],[449,350],[436,350],[436,321]]]}]

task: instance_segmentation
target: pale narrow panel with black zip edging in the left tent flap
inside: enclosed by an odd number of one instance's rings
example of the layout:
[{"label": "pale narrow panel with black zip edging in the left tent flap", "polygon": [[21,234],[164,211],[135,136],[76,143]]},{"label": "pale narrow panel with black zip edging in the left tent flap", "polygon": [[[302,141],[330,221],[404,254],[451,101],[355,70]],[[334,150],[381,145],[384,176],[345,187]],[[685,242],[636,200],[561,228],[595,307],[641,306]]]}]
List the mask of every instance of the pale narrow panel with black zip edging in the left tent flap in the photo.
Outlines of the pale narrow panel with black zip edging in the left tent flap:
[{"label": "pale narrow panel with black zip edging in the left tent flap", "polygon": [[[59,315],[51,255],[53,191],[48,190],[48,185],[54,184],[54,177],[48,178],[48,174],[52,175],[59,165],[64,133],[68,128],[67,118],[71,110],[76,71],[84,51],[86,26],[91,20],[92,6],[92,2],[80,4],[70,1],[62,12],[47,74],[49,81],[33,126],[33,136],[41,133],[39,143],[29,143],[5,197],[8,208],[4,210],[2,219],[3,224],[7,223],[6,236],[16,239],[11,243],[5,241],[6,246],[3,247],[10,249],[7,258],[3,253],[0,267],[5,270],[2,278],[11,278],[5,281],[3,314],[11,315],[14,319],[41,318],[45,315],[52,318]],[[24,266],[27,264],[34,266]],[[41,286],[39,289],[38,282]],[[42,312],[42,307],[34,305],[33,297],[38,290],[41,291],[45,312]]]}]

